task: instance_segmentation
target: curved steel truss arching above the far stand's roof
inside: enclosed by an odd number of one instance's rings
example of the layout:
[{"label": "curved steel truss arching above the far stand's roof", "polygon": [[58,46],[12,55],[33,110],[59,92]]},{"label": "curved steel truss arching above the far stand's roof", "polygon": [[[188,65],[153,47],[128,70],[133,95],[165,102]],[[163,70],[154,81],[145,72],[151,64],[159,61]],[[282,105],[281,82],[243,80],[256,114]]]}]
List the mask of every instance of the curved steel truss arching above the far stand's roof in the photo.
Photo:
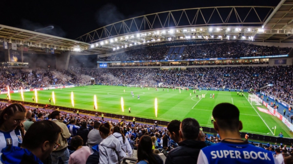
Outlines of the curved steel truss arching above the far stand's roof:
[{"label": "curved steel truss arching above the far stand's roof", "polygon": [[126,34],[183,27],[261,27],[274,9],[275,7],[265,6],[232,6],[160,12],[110,24],[84,34],[76,40],[94,43]]}]

